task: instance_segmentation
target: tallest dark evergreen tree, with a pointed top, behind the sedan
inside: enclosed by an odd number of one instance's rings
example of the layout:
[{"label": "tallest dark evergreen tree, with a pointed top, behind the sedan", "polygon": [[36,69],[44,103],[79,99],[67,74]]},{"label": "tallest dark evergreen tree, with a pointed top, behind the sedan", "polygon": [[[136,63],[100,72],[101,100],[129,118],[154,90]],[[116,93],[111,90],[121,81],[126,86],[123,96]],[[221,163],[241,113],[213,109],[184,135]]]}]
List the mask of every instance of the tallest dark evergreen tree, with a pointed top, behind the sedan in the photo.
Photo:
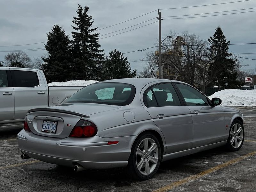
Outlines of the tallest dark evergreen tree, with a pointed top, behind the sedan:
[{"label": "tallest dark evergreen tree, with a pointed top, behind the sedan", "polygon": [[92,28],[92,16],[88,15],[89,7],[84,9],[78,5],[77,17],[73,17],[75,24],[72,32],[72,53],[74,59],[73,80],[101,80],[104,54],[99,49],[99,33],[93,33],[97,28]]}]

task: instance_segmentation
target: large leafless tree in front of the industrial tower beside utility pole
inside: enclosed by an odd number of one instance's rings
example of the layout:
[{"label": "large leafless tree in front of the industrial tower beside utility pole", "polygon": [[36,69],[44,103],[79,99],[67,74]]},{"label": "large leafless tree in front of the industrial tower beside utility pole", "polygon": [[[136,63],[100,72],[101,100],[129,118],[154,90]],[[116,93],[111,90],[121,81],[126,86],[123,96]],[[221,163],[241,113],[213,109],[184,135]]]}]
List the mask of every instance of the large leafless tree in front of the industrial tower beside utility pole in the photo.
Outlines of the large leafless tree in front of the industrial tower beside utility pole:
[{"label": "large leafless tree in front of the industrial tower beside utility pole", "polygon": [[[168,36],[172,39],[166,38],[162,43],[162,62],[173,70],[172,79],[187,82],[205,92],[205,87],[218,73],[209,73],[212,54],[206,49],[207,41],[187,31],[170,31]],[[148,60],[158,64],[158,54],[148,53]]]}]

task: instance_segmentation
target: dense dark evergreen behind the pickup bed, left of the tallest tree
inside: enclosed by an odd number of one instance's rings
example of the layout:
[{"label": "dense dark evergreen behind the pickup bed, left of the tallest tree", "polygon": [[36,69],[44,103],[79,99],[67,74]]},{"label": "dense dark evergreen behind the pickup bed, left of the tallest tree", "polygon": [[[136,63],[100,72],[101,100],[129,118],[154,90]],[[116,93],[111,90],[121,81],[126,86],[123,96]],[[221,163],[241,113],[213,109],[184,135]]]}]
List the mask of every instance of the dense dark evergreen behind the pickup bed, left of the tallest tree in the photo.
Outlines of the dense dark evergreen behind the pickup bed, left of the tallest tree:
[{"label": "dense dark evergreen behind the pickup bed, left of the tallest tree", "polygon": [[47,44],[44,45],[48,51],[48,57],[42,59],[42,70],[47,82],[64,82],[71,80],[72,54],[70,40],[65,31],[59,25],[54,25],[52,31],[47,34]]}]

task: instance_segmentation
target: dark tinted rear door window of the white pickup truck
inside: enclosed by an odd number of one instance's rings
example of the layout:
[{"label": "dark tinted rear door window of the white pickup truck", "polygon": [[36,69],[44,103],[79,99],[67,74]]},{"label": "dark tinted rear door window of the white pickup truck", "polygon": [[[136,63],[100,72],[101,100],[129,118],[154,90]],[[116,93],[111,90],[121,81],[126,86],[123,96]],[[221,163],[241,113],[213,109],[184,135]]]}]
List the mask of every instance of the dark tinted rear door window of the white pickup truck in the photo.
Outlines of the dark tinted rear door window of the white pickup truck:
[{"label": "dark tinted rear door window of the white pickup truck", "polygon": [[13,87],[36,87],[39,80],[34,71],[11,70]]}]

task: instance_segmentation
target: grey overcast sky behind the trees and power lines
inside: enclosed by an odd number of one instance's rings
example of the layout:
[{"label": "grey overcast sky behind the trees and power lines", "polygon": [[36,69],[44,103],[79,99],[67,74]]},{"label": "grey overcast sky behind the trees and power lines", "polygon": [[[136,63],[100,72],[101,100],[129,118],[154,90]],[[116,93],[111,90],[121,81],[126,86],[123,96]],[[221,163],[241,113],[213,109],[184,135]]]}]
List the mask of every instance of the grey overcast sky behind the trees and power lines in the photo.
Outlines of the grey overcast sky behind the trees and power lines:
[{"label": "grey overcast sky behind the trees and power lines", "polygon": [[[46,41],[46,34],[51,31],[52,25],[60,25],[62,29],[66,31],[66,34],[71,34],[72,31],[72,16],[76,16],[77,5],[80,4],[83,7],[89,6],[89,14],[92,15],[94,20],[94,27],[99,29],[123,22],[125,20],[135,18],[142,14],[164,8],[176,8],[187,7],[206,4],[218,4],[225,2],[235,2],[239,0],[169,0],[169,1],[157,1],[157,0],[94,0],[94,1],[3,1],[0,0],[0,51],[3,50],[24,50],[43,48],[44,44],[34,44],[26,46],[9,46],[30,44]],[[256,0],[244,1],[239,3],[212,5],[203,7],[192,7],[183,9],[161,10],[162,17],[177,16],[177,15],[189,15],[200,14],[218,11],[230,11],[238,9],[256,8]],[[234,12],[244,11],[256,11],[256,9],[243,10],[243,11],[231,11],[216,14],[226,14]],[[147,14],[143,17],[132,19],[120,25],[115,25],[106,29],[99,30],[100,35],[114,32],[132,25],[139,24],[149,19],[155,18],[151,21],[143,24],[128,28],[120,31],[125,32],[130,29],[140,27],[142,25],[150,24],[157,21],[157,11]],[[200,16],[200,15],[199,15]],[[202,16],[202,15],[201,15]],[[189,17],[189,16],[187,16]],[[192,16],[190,16],[192,17]],[[195,16],[194,16],[195,17]],[[176,17],[181,18],[181,17]],[[188,31],[189,33],[196,33],[202,39],[207,39],[213,36],[215,29],[220,25],[224,31],[224,35],[230,43],[256,43],[256,25],[255,25],[256,12],[221,15],[214,17],[202,17],[202,18],[185,18],[185,19],[171,19],[162,20],[162,38],[166,37],[170,30],[172,31]],[[116,33],[120,33],[116,32]],[[116,33],[102,36],[107,37]],[[158,39],[158,23],[154,23],[148,26],[141,27],[139,29],[126,32],[113,37],[100,39],[99,43],[101,48],[104,49],[104,53],[107,56],[113,49],[118,49],[122,53],[141,50],[156,45]],[[6,47],[3,47],[6,46]],[[7,47],[9,46],[9,47]],[[146,57],[148,51],[155,51],[156,48],[148,49],[146,51],[139,51],[133,53],[124,54],[129,61],[140,60]],[[246,58],[256,59],[256,44],[252,45],[230,45],[229,52],[233,53],[255,53],[244,54]],[[8,52],[0,52],[0,61],[4,61],[4,55]],[[28,51],[29,57],[40,57],[45,50],[40,51]],[[251,55],[251,56],[248,56]],[[244,67],[244,69],[254,69],[256,66],[256,60],[243,59],[243,64],[249,64],[250,66]],[[146,62],[132,62],[132,69],[137,68],[141,71]]]}]

